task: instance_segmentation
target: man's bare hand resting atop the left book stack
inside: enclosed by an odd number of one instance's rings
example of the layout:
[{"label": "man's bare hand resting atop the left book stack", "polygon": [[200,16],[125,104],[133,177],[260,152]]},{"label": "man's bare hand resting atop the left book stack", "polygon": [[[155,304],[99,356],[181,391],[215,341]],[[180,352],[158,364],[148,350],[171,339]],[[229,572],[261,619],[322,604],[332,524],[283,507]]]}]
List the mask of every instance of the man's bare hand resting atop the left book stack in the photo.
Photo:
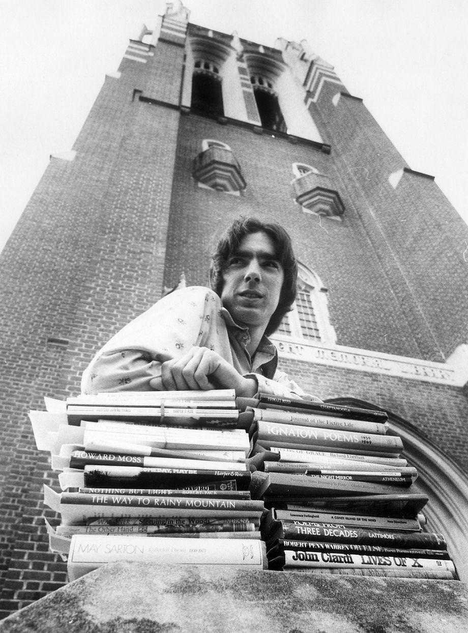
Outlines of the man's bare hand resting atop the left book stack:
[{"label": "man's bare hand resting atop the left book stack", "polygon": [[208,348],[191,348],[179,358],[158,354],[161,377],[149,381],[156,391],[235,389],[236,396],[251,398],[258,390],[253,378],[244,378],[219,354]]}]

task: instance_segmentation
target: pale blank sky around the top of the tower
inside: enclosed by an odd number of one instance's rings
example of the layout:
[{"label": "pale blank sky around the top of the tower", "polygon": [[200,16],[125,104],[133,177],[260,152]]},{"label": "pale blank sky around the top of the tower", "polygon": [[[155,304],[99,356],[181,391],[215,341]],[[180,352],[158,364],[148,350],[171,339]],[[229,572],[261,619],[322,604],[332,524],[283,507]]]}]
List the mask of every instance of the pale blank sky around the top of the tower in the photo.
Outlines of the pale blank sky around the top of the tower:
[{"label": "pale blank sky around the top of the tower", "polygon": [[[190,21],[259,44],[307,40],[468,223],[465,0],[185,0]],[[52,153],[161,0],[0,0],[0,249]]]}]

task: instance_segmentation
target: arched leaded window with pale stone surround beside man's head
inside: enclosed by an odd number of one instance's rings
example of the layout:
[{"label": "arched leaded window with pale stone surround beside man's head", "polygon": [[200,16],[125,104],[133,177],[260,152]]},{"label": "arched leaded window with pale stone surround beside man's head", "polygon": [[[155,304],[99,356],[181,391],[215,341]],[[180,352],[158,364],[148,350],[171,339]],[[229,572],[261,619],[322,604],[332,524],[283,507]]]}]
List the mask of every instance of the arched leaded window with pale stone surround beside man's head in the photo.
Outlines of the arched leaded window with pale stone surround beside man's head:
[{"label": "arched leaded window with pale stone surround beside man's head", "polygon": [[284,316],[277,334],[334,344],[336,334],[330,323],[327,303],[327,289],[319,276],[299,263],[296,301],[293,310]]}]

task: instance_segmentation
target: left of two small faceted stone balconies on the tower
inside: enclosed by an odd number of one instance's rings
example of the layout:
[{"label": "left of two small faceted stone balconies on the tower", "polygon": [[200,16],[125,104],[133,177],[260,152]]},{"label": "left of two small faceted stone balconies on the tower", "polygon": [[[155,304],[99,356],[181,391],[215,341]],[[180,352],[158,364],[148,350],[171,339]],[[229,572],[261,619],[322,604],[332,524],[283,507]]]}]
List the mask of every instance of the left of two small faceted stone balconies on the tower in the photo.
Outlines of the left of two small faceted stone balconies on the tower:
[{"label": "left of two small faceted stone balconies on the tower", "polygon": [[216,191],[235,192],[247,186],[232,151],[224,147],[208,147],[199,153],[192,173],[195,180]]}]

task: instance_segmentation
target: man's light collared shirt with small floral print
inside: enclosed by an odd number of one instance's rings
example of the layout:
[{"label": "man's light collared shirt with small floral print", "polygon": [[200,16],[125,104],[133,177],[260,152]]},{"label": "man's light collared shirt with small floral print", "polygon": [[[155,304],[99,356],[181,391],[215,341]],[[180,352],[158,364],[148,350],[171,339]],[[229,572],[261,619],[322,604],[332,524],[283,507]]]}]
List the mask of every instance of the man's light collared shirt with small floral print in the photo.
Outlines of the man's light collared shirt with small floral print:
[{"label": "man's light collared shirt with small floral print", "polygon": [[183,288],[163,297],[104,345],[83,373],[82,392],[151,391],[149,381],[161,375],[158,354],[178,358],[197,346],[212,349],[241,375],[255,378],[259,392],[306,396],[277,371],[277,351],[266,336],[253,358],[246,349],[249,342],[248,328],[232,320],[215,292]]}]

